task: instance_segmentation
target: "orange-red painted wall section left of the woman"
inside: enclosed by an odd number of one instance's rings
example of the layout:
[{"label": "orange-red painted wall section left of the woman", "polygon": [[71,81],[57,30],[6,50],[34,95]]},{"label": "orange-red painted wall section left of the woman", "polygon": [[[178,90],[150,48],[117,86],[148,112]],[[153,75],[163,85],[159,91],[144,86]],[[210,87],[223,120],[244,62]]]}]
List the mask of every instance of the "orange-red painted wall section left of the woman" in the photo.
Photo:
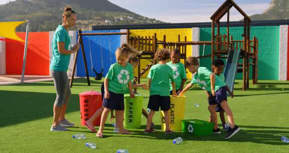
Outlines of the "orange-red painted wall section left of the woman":
[{"label": "orange-red painted wall section left of the woman", "polygon": [[[17,33],[25,40],[26,33]],[[30,32],[25,74],[49,75],[49,32]],[[6,42],[6,73],[22,74],[25,43],[19,41]]]}]

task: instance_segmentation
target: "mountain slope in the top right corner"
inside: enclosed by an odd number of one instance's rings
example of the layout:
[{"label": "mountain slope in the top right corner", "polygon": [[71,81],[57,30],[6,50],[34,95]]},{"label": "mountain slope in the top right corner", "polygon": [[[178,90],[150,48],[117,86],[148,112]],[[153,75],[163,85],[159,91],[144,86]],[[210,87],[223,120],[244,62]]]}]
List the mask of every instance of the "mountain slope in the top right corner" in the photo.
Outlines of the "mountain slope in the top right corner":
[{"label": "mountain slope in the top right corner", "polygon": [[287,20],[289,19],[289,0],[272,0],[270,7],[262,14],[250,16],[251,20]]}]

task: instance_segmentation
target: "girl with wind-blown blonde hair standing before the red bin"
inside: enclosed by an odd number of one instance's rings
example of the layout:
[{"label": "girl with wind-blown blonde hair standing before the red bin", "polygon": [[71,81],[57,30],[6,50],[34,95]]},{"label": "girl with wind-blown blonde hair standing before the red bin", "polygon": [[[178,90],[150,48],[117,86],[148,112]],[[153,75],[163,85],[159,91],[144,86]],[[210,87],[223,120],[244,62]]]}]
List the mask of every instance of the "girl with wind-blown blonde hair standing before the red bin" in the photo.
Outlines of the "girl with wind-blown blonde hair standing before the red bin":
[{"label": "girl with wind-blown blonde hair standing before the red bin", "polygon": [[128,86],[129,94],[131,98],[134,98],[132,92],[131,80],[133,79],[133,68],[127,63],[127,57],[129,55],[140,54],[128,44],[122,44],[115,51],[116,63],[112,64],[104,79],[104,99],[102,106],[103,111],[101,114],[101,121],[96,136],[103,136],[103,128],[107,115],[110,110],[115,110],[116,126],[119,128],[119,134],[132,134],[123,128],[123,112],[124,112],[124,100],[123,93]]}]

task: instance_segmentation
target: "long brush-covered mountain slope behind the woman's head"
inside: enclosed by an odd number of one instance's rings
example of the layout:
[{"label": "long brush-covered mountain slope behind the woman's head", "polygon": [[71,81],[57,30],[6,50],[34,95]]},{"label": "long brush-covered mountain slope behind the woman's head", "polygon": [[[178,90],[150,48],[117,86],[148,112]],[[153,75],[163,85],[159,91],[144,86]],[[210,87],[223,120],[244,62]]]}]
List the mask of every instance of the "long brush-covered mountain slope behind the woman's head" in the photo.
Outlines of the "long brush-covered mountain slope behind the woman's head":
[{"label": "long brush-covered mountain slope behind the woman's head", "polygon": [[[0,5],[0,19],[30,20],[30,31],[54,31],[62,24],[64,8],[76,12],[74,29],[91,30],[93,25],[164,23],[140,16],[107,0],[16,0]],[[17,31],[25,31],[25,25]]]}]

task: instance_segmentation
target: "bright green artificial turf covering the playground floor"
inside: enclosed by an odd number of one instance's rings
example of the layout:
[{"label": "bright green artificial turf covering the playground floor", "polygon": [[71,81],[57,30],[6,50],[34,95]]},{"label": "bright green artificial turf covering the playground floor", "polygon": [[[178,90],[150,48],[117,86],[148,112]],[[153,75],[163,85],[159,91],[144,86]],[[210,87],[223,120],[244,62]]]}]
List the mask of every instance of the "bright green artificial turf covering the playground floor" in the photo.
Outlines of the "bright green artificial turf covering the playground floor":
[{"label": "bright green artificial turf covering the playground floor", "polygon": [[[289,144],[281,141],[281,136],[289,137],[289,82],[259,81],[258,85],[250,85],[249,90],[242,91],[241,81],[236,81],[235,97],[228,97],[228,102],[241,130],[225,140],[226,132],[223,131],[210,136],[194,136],[181,131],[165,135],[159,112],[153,119],[155,133],[143,133],[147,121],[144,117],[141,129],[129,129],[133,135],[115,134],[107,122],[104,138],[98,138],[80,125],[78,94],[91,89],[100,91],[101,81],[92,79],[91,86],[87,86],[84,78],[75,80],[66,118],[76,125],[65,132],[50,131],[56,97],[53,82],[0,86],[0,152],[116,152],[120,148],[128,149],[130,153],[289,152]],[[142,79],[143,83],[147,81]],[[138,93],[143,94],[143,107],[146,108],[149,91],[138,90]],[[205,92],[194,86],[185,95],[185,119],[208,120]],[[196,103],[200,107],[195,107]],[[76,133],[85,133],[87,138],[73,139],[72,135]],[[173,144],[173,139],[179,136],[184,141]],[[88,141],[96,143],[97,148],[87,148],[85,143]]]}]

